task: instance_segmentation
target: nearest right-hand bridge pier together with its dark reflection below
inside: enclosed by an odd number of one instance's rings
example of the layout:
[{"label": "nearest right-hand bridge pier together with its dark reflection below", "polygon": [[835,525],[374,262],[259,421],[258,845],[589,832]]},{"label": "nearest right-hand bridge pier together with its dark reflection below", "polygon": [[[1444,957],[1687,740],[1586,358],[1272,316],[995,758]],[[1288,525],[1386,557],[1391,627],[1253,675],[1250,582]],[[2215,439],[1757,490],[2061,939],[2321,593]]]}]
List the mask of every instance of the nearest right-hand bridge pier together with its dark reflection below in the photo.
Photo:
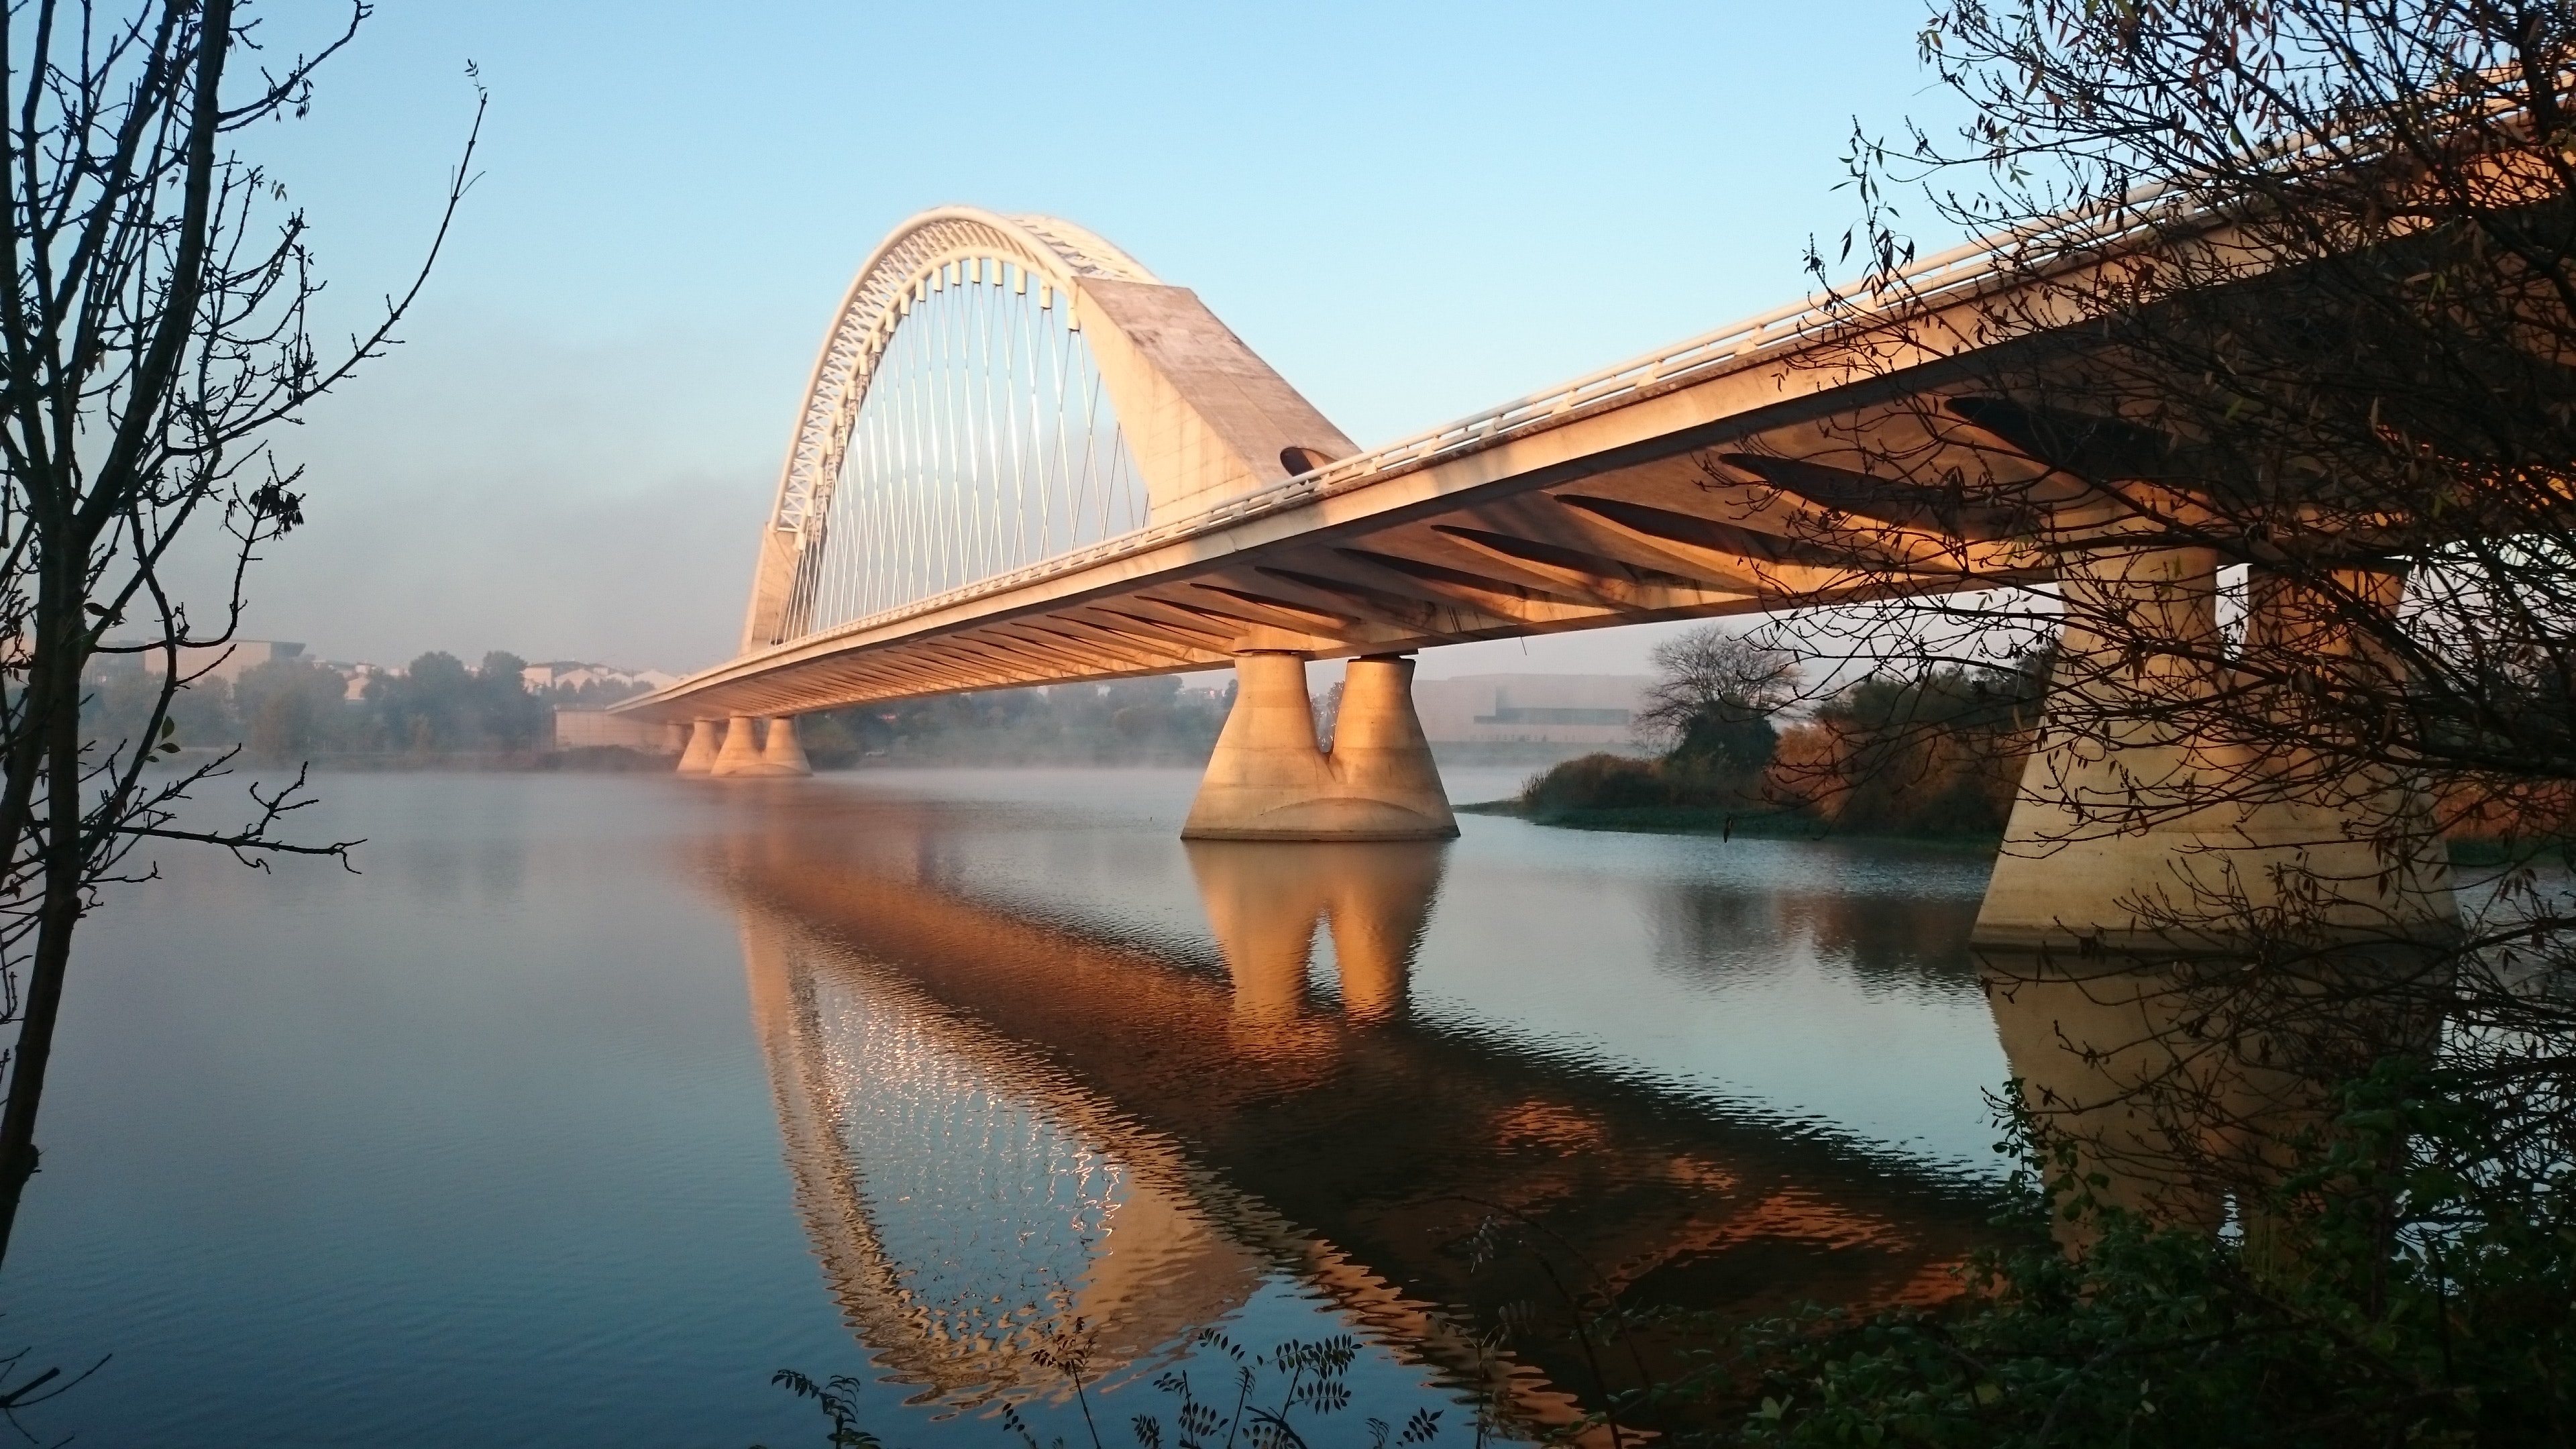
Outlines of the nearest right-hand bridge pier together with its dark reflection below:
[{"label": "nearest right-hand bridge pier together with its dark reflection below", "polygon": [[[2102,547],[2058,580],[2056,676],[1976,918],[1984,985],[2025,1104],[2105,1178],[2099,1196],[2215,1230],[2231,1194],[2277,1181],[2287,1145],[2329,1122],[2336,1062],[2429,1049],[2432,944],[2458,931],[2450,861],[2401,776],[2306,758],[2287,727],[2218,724],[2210,549]],[[2349,580],[2388,611],[2401,585]],[[2388,668],[2334,619],[2249,580],[2246,642],[2272,663]],[[2174,650],[2123,650],[2141,637]],[[2094,1230],[2056,1232],[2081,1250]]]}]

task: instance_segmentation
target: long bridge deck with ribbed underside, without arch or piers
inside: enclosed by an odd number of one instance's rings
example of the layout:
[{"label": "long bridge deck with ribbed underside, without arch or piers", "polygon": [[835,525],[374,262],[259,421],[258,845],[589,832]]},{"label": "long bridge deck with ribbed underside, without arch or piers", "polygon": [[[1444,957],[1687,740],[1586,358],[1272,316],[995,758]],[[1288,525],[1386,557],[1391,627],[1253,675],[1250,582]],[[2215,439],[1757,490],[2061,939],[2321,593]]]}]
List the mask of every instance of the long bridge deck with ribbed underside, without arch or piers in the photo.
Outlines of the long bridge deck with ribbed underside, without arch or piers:
[{"label": "long bridge deck with ribbed underside, without arch or piers", "polygon": [[[1919,487],[1860,472],[1865,451],[1965,451],[1971,477],[2040,477],[2009,438],[1888,382],[1783,397],[1759,366],[1595,407],[1489,446],[1291,485],[1242,518],[1149,531],[891,619],[863,619],[701,673],[631,706],[652,719],[781,717],[971,688],[1224,668],[1247,652],[1401,655],[1430,645],[1991,588],[2043,578],[2027,554],[1914,529]],[[1971,400],[1971,410],[1973,410]],[[1940,402],[1932,402],[1940,413]],[[1932,464],[1937,467],[1937,464]],[[1886,557],[1855,567],[1862,521]]]}]

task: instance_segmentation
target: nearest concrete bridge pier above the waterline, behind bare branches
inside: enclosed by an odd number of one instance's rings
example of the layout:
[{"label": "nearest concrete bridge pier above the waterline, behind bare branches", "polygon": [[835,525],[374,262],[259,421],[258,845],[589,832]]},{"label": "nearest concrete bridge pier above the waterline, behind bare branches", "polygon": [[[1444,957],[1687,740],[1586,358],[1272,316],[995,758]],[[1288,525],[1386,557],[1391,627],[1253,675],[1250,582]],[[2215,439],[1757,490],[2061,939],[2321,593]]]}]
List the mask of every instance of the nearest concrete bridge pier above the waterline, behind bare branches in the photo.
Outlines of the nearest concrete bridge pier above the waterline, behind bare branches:
[{"label": "nearest concrete bridge pier above the waterline, behind bare branches", "polygon": [[[2311,933],[2388,941],[2455,928],[2437,835],[2427,830],[2421,859],[2401,869],[2378,853],[2391,822],[2421,810],[2398,781],[2316,779],[2298,761],[2184,735],[2215,691],[2213,549],[2102,547],[2063,559],[2058,580],[2056,676],[1986,882],[1978,946],[2226,949],[2231,918],[2277,918],[2293,905],[2285,879],[2316,902],[2298,908]],[[2249,590],[2254,632],[2285,627],[2264,616],[2267,598],[2280,603]],[[2125,639],[2087,624],[2099,619],[2117,619]],[[2182,647],[2128,657],[2123,642],[2148,632]],[[2136,724],[2120,712],[2136,712]]]}]

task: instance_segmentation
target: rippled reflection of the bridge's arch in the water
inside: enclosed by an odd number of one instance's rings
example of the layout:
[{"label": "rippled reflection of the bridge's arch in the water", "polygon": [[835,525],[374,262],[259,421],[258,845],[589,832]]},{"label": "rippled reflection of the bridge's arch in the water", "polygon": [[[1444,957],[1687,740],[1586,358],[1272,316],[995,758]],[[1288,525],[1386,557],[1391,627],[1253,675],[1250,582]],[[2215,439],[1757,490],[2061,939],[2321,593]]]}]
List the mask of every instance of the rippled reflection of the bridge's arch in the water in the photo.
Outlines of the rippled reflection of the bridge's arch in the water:
[{"label": "rippled reflection of the bridge's arch in the water", "polygon": [[860,1341],[927,1397],[1051,1385],[1030,1354],[1074,1318],[1103,1325],[1105,1366],[1136,1361],[1257,1287],[1188,1163],[1036,1055],[863,962],[814,969],[760,908],[742,962],[814,1250]]}]

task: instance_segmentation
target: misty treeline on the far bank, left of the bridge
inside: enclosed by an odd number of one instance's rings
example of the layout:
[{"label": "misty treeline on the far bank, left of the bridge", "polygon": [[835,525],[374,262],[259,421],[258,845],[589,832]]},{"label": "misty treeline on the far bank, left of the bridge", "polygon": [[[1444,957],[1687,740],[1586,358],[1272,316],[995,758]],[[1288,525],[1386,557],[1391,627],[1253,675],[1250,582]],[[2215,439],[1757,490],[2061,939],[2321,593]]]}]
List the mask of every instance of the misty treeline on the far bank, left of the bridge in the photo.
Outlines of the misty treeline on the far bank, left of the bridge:
[{"label": "misty treeline on the far bank, left of the bridge", "polygon": [[[242,750],[260,761],[332,755],[513,755],[554,745],[554,706],[598,706],[618,691],[598,686],[531,691],[526,660],[489,652],[479,668],[428,652],[404,673],[379,673],[350,696],[340,670],[314,660],[270,660],[232,683],[198,678],[170,701],[175,743]],[[162,676],[124,668],[90,683],[82,727],[93,740],[131,740],[149,722]]]}]

